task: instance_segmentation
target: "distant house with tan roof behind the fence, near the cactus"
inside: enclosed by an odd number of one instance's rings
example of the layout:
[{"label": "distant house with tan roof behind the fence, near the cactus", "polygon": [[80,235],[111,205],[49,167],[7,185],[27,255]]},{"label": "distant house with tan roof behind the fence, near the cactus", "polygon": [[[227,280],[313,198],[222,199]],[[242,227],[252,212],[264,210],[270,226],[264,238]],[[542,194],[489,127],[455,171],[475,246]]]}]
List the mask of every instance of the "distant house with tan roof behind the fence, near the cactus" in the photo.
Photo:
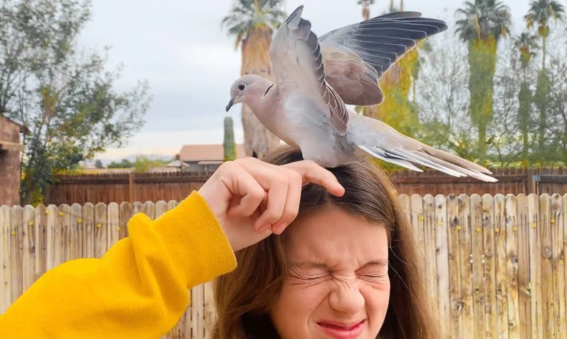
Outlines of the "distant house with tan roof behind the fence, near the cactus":
[{"label": "distant house with tan roof behind the fence, near the cactus", "polygon": [[[244,145],[236,145],[236,158],[245,156]],[[214,171],[223,163],[225,150],[218,145],[183,145],[176,160],[186,163],[184,171]]]}]

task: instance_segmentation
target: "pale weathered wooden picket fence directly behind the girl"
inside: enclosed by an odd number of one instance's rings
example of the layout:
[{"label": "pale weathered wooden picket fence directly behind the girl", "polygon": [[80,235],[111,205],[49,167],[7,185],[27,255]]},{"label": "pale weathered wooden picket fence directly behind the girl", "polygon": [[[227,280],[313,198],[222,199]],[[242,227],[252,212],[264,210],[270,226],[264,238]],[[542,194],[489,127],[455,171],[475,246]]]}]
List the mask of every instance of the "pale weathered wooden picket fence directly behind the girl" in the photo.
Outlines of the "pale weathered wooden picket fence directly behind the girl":
[{"label": "pale weathered wooden picket fence directly behind the girl", "polygon": [[[426,194],[399,197],[423,259],[429,295],[448,338],[565,338],[567,194]],[[0,312],[44,271],[101,257],[128,235],[135,212],[155,218],[166,203],[0,208]],[[207,338],[210,286],[166,338]]]}]

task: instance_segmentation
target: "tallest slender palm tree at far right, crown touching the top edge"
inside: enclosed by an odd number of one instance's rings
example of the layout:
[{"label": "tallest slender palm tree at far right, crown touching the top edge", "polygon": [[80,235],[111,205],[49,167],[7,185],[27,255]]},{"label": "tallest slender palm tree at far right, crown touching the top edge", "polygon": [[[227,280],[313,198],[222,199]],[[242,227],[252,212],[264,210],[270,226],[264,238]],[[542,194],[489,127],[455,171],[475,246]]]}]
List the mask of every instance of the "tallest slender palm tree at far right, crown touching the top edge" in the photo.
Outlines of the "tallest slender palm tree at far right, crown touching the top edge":
[{"label": "tallest slender palm tree at far right, crown touching the top edge", "polygon": [[[539,111],[538,130],[538,152],[540,161],[545,161],[546,129],[548,123],[548,98],[550,92],[550,80],[546,69],[547,39],[550,33],[549,23],[551,19],[561,20],[565,8],[561,3],[554,0],[534,0],[530,2],[530,10],[525,15],[527,28],[537,24],[537,34],[541,37],[541,70],[537,78],[536,92],[534,93],[534,104]],[[543,156],[543,158],[542,158]]]}]

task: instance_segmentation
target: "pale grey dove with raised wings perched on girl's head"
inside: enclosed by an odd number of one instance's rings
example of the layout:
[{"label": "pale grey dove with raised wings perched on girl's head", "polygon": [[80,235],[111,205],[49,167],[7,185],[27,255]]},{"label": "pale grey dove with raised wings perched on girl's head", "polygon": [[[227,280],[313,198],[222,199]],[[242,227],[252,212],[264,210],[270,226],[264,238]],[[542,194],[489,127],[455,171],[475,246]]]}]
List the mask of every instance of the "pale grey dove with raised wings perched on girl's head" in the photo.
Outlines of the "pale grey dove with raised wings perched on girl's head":
[{"label": "pale grey dove with raised wings perched on girl's head", "polygon": [[275,75],[238,78],[226,110],[247,104],[274,135],[301,149],[305,160],[338,167],[373,157],[417,172],[430,167],[451,176],[495,182],[485,167],[401,134],[347,107],[384,100],[378,80],[417,42],[447,26],[419,12],[392,12],[317,37],[299,6],[270,44]]}]

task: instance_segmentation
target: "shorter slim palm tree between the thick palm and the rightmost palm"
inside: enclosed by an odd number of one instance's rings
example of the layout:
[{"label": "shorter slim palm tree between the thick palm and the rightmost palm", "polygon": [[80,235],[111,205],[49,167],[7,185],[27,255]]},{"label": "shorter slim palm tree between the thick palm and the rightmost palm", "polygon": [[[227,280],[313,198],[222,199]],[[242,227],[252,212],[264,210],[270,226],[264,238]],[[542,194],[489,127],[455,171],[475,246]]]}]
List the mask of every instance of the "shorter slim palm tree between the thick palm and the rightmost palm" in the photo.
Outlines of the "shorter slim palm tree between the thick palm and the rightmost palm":
[{"label": "shorter slim palm tree between the thick palm and the rightmost palm", "polygon": [[520,131],[522,133],[522,167],[527,168],[528,162],[528,141],[530,131],[530,109],[532,107],[532,91],[530,90],[530,83],[527,82],[527,67],[530,66],[530,61],[534,57],[535,50],[539,48],[537,42],[537,35],[530,33],[522,33],[514,38],[514,49],[520,53],[520,62],[523,71],[523,80],[518,93],[518,121],[520,123]]}]

